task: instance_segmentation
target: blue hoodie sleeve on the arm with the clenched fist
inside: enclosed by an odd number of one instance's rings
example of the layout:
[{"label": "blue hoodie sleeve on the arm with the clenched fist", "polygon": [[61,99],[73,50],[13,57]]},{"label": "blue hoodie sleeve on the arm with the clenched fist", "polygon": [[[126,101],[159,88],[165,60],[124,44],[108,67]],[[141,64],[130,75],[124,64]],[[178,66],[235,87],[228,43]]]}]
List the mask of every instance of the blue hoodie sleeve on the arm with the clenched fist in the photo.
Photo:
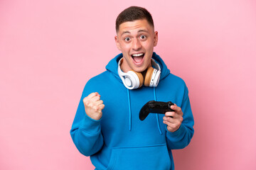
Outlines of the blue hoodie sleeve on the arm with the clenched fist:
[{"label": "blue hoodie sleeve on the arm with the clenched fist", "polygon": [[100,126],[101,120],[94,120],[87,116],[85,113],[85,106],[82,101],[85,96],[95,92],[92,91],[89,86],[90,85],[86,85],[82,92],[78,110],[75,114],[75,119],[70,130],[70,135],[75,143],[75,147],[78,148],[81,154],[84,154],[87,157],[97,153],[103,145],[103,137]]}]

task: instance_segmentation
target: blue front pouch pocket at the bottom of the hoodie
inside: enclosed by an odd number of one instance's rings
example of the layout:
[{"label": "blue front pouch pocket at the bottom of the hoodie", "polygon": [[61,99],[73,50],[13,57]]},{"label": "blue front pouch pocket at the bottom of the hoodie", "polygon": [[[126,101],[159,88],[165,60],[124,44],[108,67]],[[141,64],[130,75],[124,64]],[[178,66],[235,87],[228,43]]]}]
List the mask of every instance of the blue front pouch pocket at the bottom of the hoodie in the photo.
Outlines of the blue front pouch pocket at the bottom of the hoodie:
[{"label": "blue front pouch pocket at the bottom of the hoodie", "polygon": [[112,148],[107,170],[127,169],[171,169],[171,159],[166,145]]}]

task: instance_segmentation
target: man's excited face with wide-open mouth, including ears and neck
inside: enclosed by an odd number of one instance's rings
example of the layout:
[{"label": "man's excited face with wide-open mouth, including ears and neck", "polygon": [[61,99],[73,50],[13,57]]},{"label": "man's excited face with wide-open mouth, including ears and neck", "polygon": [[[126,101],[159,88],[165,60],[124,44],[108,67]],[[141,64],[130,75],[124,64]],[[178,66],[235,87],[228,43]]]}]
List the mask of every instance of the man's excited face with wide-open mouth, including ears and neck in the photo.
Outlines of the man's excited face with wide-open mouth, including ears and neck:
[{"label": "man's excited face with wide-open mouth, including ears and neck", "polygon": [[153,26],[150,26],[146,19],[120,24],[119,32],[114,40],[124,56],[121,64],[123,72],[131,69],[135,72],[143,72],[151,66],[151,57],[157,45],[158,33],[154,32]]}]

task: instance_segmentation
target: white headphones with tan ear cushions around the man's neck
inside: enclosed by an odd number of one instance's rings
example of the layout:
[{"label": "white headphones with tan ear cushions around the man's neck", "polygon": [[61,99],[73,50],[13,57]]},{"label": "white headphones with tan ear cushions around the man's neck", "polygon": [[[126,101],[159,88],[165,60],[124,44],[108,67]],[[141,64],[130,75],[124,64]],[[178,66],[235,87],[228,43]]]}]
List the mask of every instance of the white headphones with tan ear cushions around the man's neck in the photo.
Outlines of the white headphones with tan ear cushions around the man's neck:
[{"label": "white headphones with tan ear cushions around the man's neck", "polygon": [[143,84],[145,86],[157,86],[159,84],[161,68],[153,59],[151,59],[151,63],[156,69],[149,67],[146,71],[145,78],[142,76],[142,73],[135,72],[134,70],[130,70],[127,73],[122,72],[122,60],[123,58],[118,62],[118,74],[127,89],[138,89]]}]

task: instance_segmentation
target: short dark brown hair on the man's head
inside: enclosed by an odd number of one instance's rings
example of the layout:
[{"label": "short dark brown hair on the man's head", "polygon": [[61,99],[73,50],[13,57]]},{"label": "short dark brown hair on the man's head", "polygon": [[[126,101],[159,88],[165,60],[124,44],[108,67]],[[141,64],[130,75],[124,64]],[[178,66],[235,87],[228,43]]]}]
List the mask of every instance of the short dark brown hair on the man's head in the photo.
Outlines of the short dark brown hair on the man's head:
[{"label": "short dark brown hair on the man's head", "polygon": [[129,8],[124,9],[119,15],[117,16],[116,20],[116,31],[119,31],[119,26],[121,23],[125,23],[127,21],[135,21],[140,19],[146,19],[149,25],[153,26],[154,28],[154,21],[146,8],[142,8],[139,6],[130,6]]}]

